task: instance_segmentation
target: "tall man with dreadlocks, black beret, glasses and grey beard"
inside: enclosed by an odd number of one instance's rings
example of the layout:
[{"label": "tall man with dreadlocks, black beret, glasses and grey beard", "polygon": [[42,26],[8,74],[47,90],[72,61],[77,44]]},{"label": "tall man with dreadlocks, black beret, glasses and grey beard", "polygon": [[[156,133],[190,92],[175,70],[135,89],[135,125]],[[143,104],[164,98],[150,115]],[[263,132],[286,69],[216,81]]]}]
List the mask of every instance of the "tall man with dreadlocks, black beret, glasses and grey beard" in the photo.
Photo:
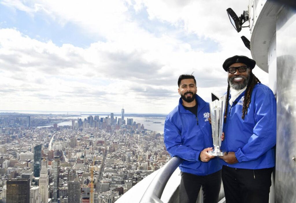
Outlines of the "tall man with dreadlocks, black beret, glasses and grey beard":
[{"label": "tall man with dreadlocks, black beret, glasses and grey beard", "polygon": [[246,56],[225,60],[228,72],[225,133],[220,157],[227,203],[268,202],[275,165],[276,100],[252,73],[256,62]]}]

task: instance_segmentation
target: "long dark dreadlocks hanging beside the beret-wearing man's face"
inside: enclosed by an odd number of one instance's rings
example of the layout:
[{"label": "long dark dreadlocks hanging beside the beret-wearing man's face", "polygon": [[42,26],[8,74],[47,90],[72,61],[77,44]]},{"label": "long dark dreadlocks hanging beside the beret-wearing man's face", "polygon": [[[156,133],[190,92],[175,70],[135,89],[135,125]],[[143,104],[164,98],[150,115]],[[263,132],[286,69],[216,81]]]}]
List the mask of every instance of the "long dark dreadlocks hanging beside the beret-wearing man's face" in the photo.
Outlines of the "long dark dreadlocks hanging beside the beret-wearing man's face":
[{"label": "long dark dreadlocks hanging beside the beret-wearing man's face", "polygon": [[[246,91],[244,93],[244,103],[243,103],[243,107],[242,107],[242,119],[243,120],[244,120],[244,116],[248,112],[248,107],[249,107],[249,105],[251,103],[251,95],[252,95],[253,88],[254,88],[255,84],[257,84],[257,83],[261,83],[261,82],[251,71],[250,79],[249,79],[249,82],[247,84]],[[226,95],[226,107],[225,107],[225,114],[224,114],[225,115],[224,122],[226,122],[226,117],[227,117],[227,112],[228,112],[229,92],[230,92],[230,84],[228,82],[227,95]]]}]

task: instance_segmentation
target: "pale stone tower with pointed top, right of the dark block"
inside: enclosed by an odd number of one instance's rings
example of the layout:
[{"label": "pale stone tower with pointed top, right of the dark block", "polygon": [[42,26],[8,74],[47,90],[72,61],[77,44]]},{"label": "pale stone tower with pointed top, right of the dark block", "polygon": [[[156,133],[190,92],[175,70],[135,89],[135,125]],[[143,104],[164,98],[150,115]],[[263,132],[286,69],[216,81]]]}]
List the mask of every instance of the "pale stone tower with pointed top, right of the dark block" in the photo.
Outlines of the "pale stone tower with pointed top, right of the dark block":
[{"label": "pale stone tower with pointed top, right of the dark block", "polygon": [[39,192],[40,192],[40,195],[41,195],[42,203],[48,203],[47,160],[42,161],[40,178],[39,178]]}]

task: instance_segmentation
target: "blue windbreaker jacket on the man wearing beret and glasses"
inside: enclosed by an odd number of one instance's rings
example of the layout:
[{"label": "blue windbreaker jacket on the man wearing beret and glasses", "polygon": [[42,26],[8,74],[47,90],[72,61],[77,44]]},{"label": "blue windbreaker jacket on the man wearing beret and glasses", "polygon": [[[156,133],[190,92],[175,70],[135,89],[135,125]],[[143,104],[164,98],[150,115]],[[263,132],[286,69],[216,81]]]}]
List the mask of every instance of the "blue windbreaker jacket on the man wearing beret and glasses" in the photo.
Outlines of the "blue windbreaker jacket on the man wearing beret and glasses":
[{"label": "blue windbreaker jacket on the man wearing beret and glasses", "polygon": [[244,92],[228,108],[224,123],[225,138],[221,149],[235,152],[236,164],[223,165],[233,168],[263,169],[274,167],[276,144],[276,100],[267,86],[254,86],[251,102],[242,120]]}]

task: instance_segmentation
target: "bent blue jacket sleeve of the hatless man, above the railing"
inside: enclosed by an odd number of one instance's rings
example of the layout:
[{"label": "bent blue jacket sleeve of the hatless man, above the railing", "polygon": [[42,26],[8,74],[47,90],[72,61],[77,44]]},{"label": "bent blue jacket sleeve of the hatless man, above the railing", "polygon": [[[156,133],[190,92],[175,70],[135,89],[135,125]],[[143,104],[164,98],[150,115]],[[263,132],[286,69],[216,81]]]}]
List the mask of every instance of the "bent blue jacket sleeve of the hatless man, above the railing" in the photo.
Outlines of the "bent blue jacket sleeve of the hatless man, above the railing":
[{"label": "bent blue jacket sleeve of the hatless man, above the railing", "polygon": [[169,116],[165,119],[164,143],[171,156],[178,156],[191,162],[199,162],[201,151],[193,150],[182,145],[180,130],[170,120]]}]

